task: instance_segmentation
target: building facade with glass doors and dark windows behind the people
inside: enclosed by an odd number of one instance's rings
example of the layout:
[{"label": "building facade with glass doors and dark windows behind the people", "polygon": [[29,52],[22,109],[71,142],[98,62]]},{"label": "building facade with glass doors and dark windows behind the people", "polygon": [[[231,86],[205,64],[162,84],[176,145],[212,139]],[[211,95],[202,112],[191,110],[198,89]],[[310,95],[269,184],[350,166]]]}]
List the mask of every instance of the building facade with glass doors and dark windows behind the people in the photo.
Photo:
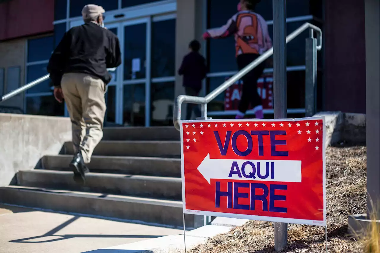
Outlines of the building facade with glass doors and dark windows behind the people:
[{"label": "building facade with glass doors and dark windows behind the people", "polygon": [[[83,24],[81,9],[94,3],[105,8],[105,25],[117,34],[123,63],[112,73],[106,93],[106,125],[172,125],[173,101],[184,94],[177,70],[198,39],[209,73],[206,95],[237,72],[234,40],[203,41],[207,28],[219,27],[236,13],[231,0],[6,0],[0,3],[0,95],[46,74],[46,65],[65,31]],[[319,110],[365,113],[364,3],[354,0],[287,0],[287,33],[310,22],[323,31],[318,52]],[[261,0],[256,12],[272,36],[272,1]],[[348,25],[350,24],[350,25]],[[288,114],[302,116],[305,106],[305,31],[287,45]],[[271,110],[271,60],[261,79],[261,95]],[[264,92],[265,90],[265,92]],[[213,118],[232,117],[231,91],[208,105]],[[25,114],[68,116],[45,81],[0,103]],[[1,109],[0,109],[1,110]]]}]

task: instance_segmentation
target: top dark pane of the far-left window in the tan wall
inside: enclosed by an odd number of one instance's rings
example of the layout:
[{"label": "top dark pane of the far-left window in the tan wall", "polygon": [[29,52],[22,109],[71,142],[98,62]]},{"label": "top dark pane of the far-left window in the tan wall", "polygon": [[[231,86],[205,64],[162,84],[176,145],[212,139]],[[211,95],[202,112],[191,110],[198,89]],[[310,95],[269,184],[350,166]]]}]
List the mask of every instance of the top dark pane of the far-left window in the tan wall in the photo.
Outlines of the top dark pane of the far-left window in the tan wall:
[{"label": "top dark pane of the far-left window in the tan wall", "polygon": [[28,62],[49,60],[53,44],[53,36],[28,40]]}]

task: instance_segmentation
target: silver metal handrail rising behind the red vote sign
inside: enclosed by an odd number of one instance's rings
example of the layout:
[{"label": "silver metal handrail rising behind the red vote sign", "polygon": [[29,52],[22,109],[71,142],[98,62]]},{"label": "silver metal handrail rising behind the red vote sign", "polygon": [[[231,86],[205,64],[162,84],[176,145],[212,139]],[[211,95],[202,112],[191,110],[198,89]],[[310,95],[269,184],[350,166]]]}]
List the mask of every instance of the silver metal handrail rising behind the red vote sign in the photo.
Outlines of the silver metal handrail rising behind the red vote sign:
[{"label": "silver metal handrail rising behind the red vote sign", "polygon": [[[298,35],[300,35],[302,32],[304,32],[306,29],[315,30],[318,34],[318,45],[317,50],[322,49],[322,30],[310,23],[305,23],[301,25],[298,29],[296,29],[294,32],[290,33],[286,37],[286,43],[292,41],[294,38],[296,38]],[[241,71],[239,71],[237,74],[232,76],[230,79],[225,81],[223,84],[221,84],[219,87],[217,87],[215,90],[213,90],[211,93],[209,93],[205,97],[199,97],[199,96],[187,96],[187,95],[179,95],[177,99],[174,101],[174,117],[173,117],[173,123],[174,127],[180,131],[180,120],[181,120],[181,106],[183,102],[186,103],[192,103],[192,104],[202,104],[202,113],[205,119],[207,119],[207,104],[211,102],[214,98],[216,98],[220,93],[225,91],[228,87],[230,87],[232,84],[234,84],[236,81],[241,79],[241,77],[245,76],[247,73],[249,73],[253,68],[258,66],[260,63],[264,62],[264,60],[268,59],[273,54],[273,47],[269,49],[268,51],[264,52],[264,54],[260,55],[256,60],[251,62],[249,65],[247,65],[245,68],[243,68]]]}]

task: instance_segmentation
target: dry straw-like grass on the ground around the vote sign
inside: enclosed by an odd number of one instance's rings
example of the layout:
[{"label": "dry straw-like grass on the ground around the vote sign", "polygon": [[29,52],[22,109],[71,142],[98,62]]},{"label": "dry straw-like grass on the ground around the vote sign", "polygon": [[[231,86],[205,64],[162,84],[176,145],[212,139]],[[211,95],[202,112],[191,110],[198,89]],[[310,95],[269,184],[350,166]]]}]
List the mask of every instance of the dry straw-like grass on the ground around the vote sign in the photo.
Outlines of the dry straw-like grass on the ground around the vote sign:
[{"label": "dry straw-like grass on the ground around the vote sign", "polygon": [[[329,147],[326,150],[326,198],[329,252],[363,252],[363,243],[347,236],[348,215],[366,213],[366,147]],[[274,252],[273,223],[249,221],[211,238],[191,253]],[[325,252],[325,228],[288,225],[283,252]]]}]

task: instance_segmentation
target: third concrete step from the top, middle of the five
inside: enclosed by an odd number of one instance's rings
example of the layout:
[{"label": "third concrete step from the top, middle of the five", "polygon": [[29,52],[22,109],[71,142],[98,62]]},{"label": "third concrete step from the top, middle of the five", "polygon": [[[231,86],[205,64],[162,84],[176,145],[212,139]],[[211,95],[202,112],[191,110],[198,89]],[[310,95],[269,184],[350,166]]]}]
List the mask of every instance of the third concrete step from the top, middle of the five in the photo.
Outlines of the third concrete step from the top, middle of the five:
[{"label": "third concrete step from the top, middle of the five", "polygon": [[[72,155],[48,155],[42,158],[42,168],[69,171]],[[181,177],[180,158],[93,156],[91,172],[132,174],[160,177]]]}]

